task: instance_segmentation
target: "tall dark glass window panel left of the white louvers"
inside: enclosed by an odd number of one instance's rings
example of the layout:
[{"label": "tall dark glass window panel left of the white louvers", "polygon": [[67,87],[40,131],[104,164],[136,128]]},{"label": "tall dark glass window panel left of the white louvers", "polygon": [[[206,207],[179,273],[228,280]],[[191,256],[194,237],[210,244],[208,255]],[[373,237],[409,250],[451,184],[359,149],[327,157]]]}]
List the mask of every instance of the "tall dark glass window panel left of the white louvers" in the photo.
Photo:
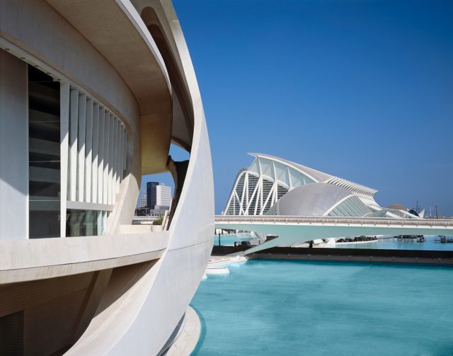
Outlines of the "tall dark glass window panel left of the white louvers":
[{"label": "tall dark glass window panel left of the white louvers", "polygon": [[59,237],[59,82],[28,66],[29,237]]}]

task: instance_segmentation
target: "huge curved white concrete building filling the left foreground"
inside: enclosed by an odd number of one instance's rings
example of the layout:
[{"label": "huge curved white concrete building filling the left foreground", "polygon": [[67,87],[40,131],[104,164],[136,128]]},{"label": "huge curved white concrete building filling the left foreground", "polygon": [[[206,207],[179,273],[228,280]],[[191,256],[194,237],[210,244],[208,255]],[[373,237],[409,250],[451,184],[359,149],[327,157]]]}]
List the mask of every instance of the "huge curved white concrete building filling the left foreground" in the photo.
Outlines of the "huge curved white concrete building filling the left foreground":
[{"label": "huge curved white concrete building filling the left foreground", "polygon": [[[164,352],[214,231],[171,2],[2,1],[0,79],[0,354]],[[173,161],[172,143],[190,159]],[[132,226],[142,175],[160,172],[175,180],[166,224]]]}]

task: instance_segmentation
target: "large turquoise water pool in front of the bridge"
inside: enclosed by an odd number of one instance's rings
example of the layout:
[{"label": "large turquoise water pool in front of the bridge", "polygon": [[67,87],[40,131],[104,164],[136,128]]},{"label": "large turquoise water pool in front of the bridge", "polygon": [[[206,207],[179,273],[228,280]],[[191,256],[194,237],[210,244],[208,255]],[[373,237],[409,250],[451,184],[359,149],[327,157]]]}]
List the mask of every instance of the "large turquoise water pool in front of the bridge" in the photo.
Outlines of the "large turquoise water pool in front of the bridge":
[{"label": "large turquoise water pool in front of the bridge", "polygon": [[191,305],[193,355],[453,355],[453,268],[249,260]]}]

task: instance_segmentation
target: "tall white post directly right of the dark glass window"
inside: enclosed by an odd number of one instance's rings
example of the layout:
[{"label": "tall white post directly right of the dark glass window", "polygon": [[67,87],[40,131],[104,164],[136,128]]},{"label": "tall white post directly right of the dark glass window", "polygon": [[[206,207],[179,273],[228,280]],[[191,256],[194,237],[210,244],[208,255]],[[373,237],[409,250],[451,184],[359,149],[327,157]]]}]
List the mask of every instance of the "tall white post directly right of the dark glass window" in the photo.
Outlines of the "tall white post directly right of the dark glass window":
[{"label": "tall white post directly right of the dark glass window", "polygon": [[59,232],[66,237],[66,202],[68,198],[68,163],[69,163],[69,82],[59,86],[59,156],[60,156],[60,202]]}]

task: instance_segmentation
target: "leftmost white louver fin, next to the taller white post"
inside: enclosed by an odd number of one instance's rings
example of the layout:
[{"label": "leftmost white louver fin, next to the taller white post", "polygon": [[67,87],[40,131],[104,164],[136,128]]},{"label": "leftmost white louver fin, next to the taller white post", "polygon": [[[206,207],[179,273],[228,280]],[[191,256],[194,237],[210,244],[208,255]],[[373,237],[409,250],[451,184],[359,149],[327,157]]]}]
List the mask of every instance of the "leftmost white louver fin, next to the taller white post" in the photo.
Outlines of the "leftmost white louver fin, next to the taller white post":
[{"label": "leftmost white louver fin, next to the taller white post", "polygon": [[79,91],[71,89],[69,98],[69,200],[77,200],[77,128],[79,127]]}]

